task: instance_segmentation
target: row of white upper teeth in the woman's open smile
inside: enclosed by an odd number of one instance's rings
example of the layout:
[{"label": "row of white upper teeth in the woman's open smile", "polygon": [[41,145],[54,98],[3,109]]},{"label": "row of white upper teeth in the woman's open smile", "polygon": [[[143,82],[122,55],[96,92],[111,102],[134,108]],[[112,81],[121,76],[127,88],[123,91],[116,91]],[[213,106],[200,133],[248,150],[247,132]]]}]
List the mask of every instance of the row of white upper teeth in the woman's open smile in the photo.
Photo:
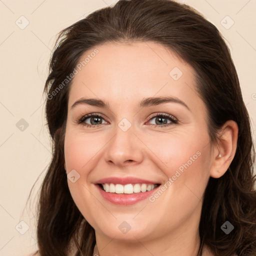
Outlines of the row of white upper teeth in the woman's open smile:
[{"label": "row of white upper teeth in the woman's open smile", "polygon": [[136,183],[136,184],[113,184],[113,183],[103,183],[103,190],[109,193],[117,193],[117,194],[132,194],[150,191],[155,188],[156,184],[145,184],[145,183]]}]

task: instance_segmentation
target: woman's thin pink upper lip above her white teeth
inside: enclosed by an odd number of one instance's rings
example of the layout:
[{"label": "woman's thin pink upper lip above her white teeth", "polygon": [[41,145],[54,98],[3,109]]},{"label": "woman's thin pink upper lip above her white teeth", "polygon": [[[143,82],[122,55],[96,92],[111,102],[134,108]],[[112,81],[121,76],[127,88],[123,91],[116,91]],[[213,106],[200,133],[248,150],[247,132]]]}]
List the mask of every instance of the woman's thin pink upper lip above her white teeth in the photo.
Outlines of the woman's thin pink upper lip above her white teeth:
[{"label": "woman's thin pink upper lip above her white teeth", "polygon": [[106,177],[106,178],[101,178],[101,179],[97,180],[94,183],[95,184],[99,184],[99,183],[113,183],[113,184],[150,183],[150,184],[159,184],[160,182],[129,176],[129,177]]}]

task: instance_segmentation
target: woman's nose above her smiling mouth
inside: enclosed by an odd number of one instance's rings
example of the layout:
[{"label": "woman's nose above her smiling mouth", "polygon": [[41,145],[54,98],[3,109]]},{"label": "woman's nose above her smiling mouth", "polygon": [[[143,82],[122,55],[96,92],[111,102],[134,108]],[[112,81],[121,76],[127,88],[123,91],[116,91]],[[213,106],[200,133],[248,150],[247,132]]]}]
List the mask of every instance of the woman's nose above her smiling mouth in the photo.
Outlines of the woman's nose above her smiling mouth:
[{"label": "woman's nose above her smiling mouth", "polygon": [[108,164],[121,168],[143,160],[143,143],[133,132],[132,126],[123,131],[116,125],[115,135],[106,145],[105,160]]}]

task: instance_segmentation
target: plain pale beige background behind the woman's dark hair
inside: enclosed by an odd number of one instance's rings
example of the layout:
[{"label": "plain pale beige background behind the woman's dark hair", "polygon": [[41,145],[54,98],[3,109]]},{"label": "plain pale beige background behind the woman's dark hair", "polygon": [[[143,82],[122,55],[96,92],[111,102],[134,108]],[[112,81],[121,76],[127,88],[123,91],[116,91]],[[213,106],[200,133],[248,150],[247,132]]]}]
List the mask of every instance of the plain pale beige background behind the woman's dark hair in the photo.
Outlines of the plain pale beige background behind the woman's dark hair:
[{"label": "plain pale beige background behind the woman's dark hair", "polygon": [[[0,255],[28,255],[36,248],[34,201],[51,156],[42,90],[56,34],[87,13],[115,2],[0,0]],[[195,7],[224,35],[255,130],[256,0],[180,2]],[[234,24],[228,28],[232,20]],[[21,118],[28,123],[23,131],[16,126]],[[41,172],[31,205],[25,208],[30,189]]]}]

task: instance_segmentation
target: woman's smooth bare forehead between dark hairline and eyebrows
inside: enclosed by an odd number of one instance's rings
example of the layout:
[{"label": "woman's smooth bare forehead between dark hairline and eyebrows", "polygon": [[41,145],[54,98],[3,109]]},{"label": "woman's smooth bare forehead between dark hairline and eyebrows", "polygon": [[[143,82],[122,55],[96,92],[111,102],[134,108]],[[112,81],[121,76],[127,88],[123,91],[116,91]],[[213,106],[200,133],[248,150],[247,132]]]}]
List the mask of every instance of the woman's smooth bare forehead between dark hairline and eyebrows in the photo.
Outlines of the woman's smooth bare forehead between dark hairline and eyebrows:
[{"label": "woman's smooth bare forehead between dark hairline and eyebrows", "polygon": [[82,54],[76,70],[69,107],[81,97],[99,97],[118,104],[162,95],[179,97],[188,104],[199,100],[193,68],[155,42],[97,45]]}]

